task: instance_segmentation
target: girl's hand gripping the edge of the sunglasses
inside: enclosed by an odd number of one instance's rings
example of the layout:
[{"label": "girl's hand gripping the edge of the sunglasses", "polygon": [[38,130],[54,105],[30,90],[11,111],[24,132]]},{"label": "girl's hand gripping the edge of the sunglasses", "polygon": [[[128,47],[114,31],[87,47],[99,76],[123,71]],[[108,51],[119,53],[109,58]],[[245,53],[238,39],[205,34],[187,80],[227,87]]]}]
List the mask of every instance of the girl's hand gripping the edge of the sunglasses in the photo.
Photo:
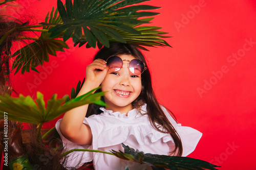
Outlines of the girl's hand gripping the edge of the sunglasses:
[{"label": "girl's hand gripping the edge of the sunglasses", "polygon": [[102,59],[96,59],[86,67],[85,83],[88,83],[92,88],[96,88],[100,86],[107,72],[108,67],[106,66],[105,61]]}]

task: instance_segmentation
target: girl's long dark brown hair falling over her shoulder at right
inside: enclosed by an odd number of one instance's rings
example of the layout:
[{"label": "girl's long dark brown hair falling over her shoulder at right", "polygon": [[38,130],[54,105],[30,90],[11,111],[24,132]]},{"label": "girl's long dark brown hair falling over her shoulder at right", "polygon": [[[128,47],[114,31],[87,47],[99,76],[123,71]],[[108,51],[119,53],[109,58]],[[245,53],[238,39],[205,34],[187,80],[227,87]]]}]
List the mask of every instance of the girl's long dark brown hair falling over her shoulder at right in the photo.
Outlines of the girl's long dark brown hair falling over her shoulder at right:
[{"label": "girl's long dark brown hair falling over her shoulder at right", "polygon": [[[138,50],[138,48],[134,44],[130,44],[130,43],[111,43],[109,48],[102,47],[98,51],[98,53],[95,55],[94,60],[96,59],[106,60],[110,56],[122,55],[122,54],[132,55],[133,57],[140,59],[145,63],[146,67],[148,68],[143,54]],[[183,151],[181,139],[178,133],[176,132],[175,128],[168,121],[163,110],[161,109],[161,106],[159,105],[156,99],[156,95],[152,88],[151,74],[149,69],[146,69],[141,74],[141,84],[142,84],[141,93],[138,96],[138,98],[132,103],[133,107],[139,109],[142,105],[147,104],[146,105],[147,114],[150,119],[151,125],[156,130],[162,133],[169,133],[173,137],[175,142],[175,149],[173,152],[171,152],[171,154],[177,153],[178,156],[181,156]],[[102,100],[104,101],[103,98]],[[98,105],[90,104],[86,117],[89,117],[90,115],[93,115],[93,114],[100,114],[101,111],[99,110],[99,108],[100,106]],[[170,112],[170,114],[175,119],[175,116],[173,115],[173,113]]]}]

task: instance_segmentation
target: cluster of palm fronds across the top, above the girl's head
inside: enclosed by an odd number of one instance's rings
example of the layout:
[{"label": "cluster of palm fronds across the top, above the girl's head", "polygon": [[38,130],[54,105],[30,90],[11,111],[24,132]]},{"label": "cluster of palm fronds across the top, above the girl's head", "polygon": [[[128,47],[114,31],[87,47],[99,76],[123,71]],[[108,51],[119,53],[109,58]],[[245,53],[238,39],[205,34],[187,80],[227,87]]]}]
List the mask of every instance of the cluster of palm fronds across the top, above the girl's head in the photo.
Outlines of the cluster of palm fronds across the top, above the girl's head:
[{"label": "cluster of palm fronds across the top, above the girl's head", "polygon": [[[60,0],[57,0],[57,9],[52,9],[50,16],[46,16],[45,22],[39,25],[26,26],[25,23],[5,30],[0,39],[0,45],[15,33],[33,31],[41,32],[39,37],[16,36],[15,40],[25,39],[32,42],[11,54],[16,57],[12,69],[16,68],[15,74],[21,69],[22,74],[30,69],[37,71],[38,65],[49,61],[49,54],[56,56],[57,51],[69,48],[65,43],[69,38],[79,46],[86,44],[87,47],[108,47],[110,42],[132,42],[146,50],[144,46],[170,46],[162,38],[165,32],[157,31],[159,27],[144,26],[153,18],[138,19],[159,13],[141,10],[152,10],[159,7],[149,5],[134,5],[148,0],[71,0],[66,1],[66,8]],[[128,6],[128,7],[127,7]],[[59,14],[59,15],[58,15]],[[25,26],[24,26],[25,25]],[[35,29],[42,27],[42,29]],[[61,40],[61,39],[62,40]],[[38,72],[38,71],[37,71]]]}]

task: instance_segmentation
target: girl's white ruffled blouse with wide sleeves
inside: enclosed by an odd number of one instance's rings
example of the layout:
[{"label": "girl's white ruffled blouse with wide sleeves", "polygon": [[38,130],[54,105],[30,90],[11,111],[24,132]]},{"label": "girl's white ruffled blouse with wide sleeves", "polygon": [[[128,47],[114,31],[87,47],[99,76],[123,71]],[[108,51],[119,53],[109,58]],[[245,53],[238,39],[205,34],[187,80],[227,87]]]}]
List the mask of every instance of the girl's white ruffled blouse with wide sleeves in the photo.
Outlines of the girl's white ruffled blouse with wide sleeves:
[{"label": "girl's white ruffled blouse with wide sleeves", "polygon": [[[182,156],[187,156],[195,150],[202,133],[193,128],[183,127],[181,124],[177,124],[167,110],[164,107],[162,109],[181,138],[183,147]],[[148,115],[142,115],[146,113],[146,104],[141,107],[142,114],[137,109],[133,109],[128,112],[127,116],[120,112],[113,113],[112,110],[106,110],[103,107],[100,110],[103,111],[101,114],[91,115],[83,120],[83,123],[89,125],[92,130],[92,145],[75,144],[66,139],[60,133],[59,124],[61,119],[58,120],[56,130],[65,148],[63,152],[72,149],[92,149],[106,152],[120,150],[123,152],[124,149],[121,143],[144,153],[169,155],[169,152],[173,151],[173,138],[169,134],[161,133],[154,129],[148,119]],[[95,152],[73,152],[69,154],[66,166],[80,167],[83,163],[92,160],[95,169],[124,169],[127,165],[129,165],[130,170],[151,169],[146,164],[126,161],[113,155]]]}]

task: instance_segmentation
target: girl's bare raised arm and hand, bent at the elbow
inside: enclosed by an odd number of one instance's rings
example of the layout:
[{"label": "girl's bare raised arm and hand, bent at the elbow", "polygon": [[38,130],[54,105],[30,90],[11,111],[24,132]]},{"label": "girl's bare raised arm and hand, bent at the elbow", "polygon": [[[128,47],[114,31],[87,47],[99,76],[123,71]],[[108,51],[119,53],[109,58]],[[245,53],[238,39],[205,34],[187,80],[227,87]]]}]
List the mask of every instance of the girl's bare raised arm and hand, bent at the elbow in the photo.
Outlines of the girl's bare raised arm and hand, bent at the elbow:
[{"label": "girl's bare raised arm and hand, bent at the elbow", "polygon": [[[99,87],[107,72],[108,67],[106,67],[104,60],[94,60],[86,68],[86,81],[83,83],[77,96]],[[91,128],[89,125],[83,124],[87,110],[88,104],[67,111],[59,125],[62,135],[77,144],[92,144]]]}]

